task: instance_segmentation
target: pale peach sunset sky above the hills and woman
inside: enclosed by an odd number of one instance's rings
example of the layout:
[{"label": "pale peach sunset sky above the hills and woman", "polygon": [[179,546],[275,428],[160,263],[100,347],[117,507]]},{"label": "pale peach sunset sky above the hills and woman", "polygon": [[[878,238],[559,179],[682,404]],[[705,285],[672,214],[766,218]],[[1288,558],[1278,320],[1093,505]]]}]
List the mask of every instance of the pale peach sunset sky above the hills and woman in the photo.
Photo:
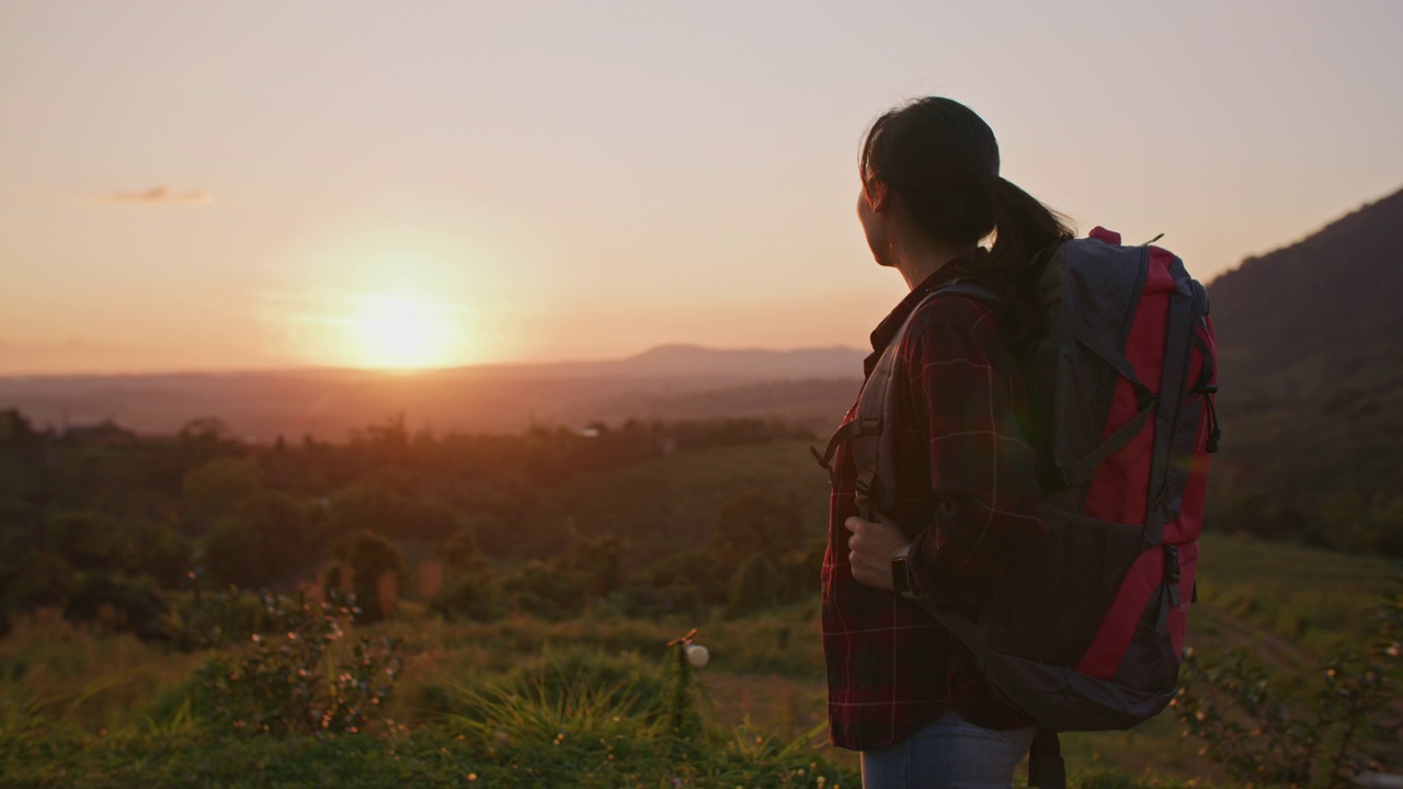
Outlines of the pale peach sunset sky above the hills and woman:
[{"label": "pale peach sunset sky above the hills and woman", "polygon": [[867,341],[871,121],[1202,281],[1403,187],[1397,0],[0,0],[0,375]]}]

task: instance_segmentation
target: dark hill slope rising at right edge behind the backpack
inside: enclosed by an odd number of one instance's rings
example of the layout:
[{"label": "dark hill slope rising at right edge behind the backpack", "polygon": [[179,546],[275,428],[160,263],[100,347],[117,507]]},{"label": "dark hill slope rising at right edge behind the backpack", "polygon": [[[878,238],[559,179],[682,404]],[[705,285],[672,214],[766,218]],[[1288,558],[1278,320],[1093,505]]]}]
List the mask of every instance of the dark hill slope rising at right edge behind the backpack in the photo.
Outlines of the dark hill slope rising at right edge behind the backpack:
[{"label": "dark hill slope rising at right edge behind the backpack", "polygon": [[1390,539],[1403,556],[1403,191],[1249,258],[1208,295],[1218,517],[1351,548]]}]

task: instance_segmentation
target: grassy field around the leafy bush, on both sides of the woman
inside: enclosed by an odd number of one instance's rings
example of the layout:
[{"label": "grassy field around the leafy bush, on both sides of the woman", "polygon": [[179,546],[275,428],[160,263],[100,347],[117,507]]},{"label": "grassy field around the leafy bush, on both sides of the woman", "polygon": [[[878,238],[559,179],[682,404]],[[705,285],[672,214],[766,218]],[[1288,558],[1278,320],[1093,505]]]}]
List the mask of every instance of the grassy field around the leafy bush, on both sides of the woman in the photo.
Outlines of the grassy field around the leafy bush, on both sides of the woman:
[{"label": "grassy field around the leafy bush, on both sides of the woman", "polygon": [[[1309,670],[1351,643],[1399,574],[1386,560],[1209,535],[1190,644],[1201,653],[1249,650],[1284,672]],[[666,643],[692,626],[713,660],[694,677],[702,734],[679,745],[650,705],[666,695]],[[77,628],[52,614],[20,621],[0,640],[0,785],[857,782],[852,754],[824,744],[812,604],[738,621],[487,625],[448,623],[405,605],[396,619],[356,635],[398,639],[405,657],[369,733],[236,737],[210,731],[192,702],[208,654]],[[1134,731],[1063,740],[1083,786],[1221,778],[1169,713]]]}]

